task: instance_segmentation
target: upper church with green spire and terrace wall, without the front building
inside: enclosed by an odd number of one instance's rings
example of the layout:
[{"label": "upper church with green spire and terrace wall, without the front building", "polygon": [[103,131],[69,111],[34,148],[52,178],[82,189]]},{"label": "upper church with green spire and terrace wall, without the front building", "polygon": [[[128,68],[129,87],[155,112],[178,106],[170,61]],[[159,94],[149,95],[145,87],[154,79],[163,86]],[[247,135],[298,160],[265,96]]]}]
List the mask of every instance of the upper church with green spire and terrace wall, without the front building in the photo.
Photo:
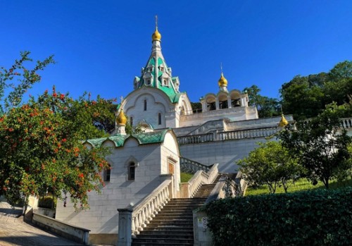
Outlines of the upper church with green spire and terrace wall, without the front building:
[{"label": "upper church with green spire and terrace wall, without the front building", "polygon": [[293,120],[291,116],[259,119],[256,107],[248,104],[248,95],[229,90],[223,73],[218,92],[203,95],[201,109],[192,109],[187,94],[180,92],[180,79],[172,75],[161,52],[157,26],[151,39],[151,55],[118,112],[123,111],[131,125],[146,131],[172,128],[182,163],[218,163],[220,171],[233,173],[238,169],[235,161],[256,147],[256,142],[276,133],[279,123]]}]

